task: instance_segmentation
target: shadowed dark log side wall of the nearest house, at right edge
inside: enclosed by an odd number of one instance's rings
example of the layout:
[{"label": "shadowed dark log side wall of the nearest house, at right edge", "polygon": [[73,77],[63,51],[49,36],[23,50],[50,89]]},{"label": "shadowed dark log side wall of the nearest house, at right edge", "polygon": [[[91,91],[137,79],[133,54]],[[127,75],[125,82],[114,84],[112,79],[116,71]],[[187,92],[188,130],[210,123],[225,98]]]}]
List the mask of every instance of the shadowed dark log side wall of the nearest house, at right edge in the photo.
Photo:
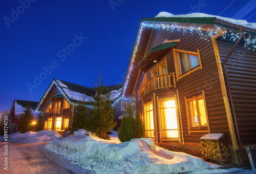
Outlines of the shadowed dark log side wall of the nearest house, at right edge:
[{"label": "shadowed dark log side wall of the nearest house, at right edge", "polygon": [[[221,61],[234,45],[234,41],[217,39]],[[240,42],[227,60],[226,69],[236,112],[241,142],[256,144],[256,53]],[[229,98],[230,103],[230,98]],[[231,105],[230,105],[231,107]],[[231,109],[230,109],[231,110]],[[232,110],[231,110],[232,111]],[[233,113],[231,113],[233,116]]]}]

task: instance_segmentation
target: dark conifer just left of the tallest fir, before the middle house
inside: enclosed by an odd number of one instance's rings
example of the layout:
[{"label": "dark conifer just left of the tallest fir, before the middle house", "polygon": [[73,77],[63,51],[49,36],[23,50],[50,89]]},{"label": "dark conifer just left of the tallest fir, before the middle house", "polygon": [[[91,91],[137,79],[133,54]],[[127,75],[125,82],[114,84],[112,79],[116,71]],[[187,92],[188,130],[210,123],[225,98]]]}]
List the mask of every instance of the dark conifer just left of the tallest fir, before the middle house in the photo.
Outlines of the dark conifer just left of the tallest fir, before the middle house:
[{"label": "dark conifer just left of the tallest fir, before the middle house", "polygon": [[78,130],[78,129],[86,129],[87,130],[87,124],[89,121],[88,114],[86,114],[86,111],[88,110],[87,102],[86,102],[86,93],[84,92],[84,95],[82,97],[82,100],[79,101],[78,105],[76,106],[77,112],[74,112],[74,119],[72,122],[72,130]]}]

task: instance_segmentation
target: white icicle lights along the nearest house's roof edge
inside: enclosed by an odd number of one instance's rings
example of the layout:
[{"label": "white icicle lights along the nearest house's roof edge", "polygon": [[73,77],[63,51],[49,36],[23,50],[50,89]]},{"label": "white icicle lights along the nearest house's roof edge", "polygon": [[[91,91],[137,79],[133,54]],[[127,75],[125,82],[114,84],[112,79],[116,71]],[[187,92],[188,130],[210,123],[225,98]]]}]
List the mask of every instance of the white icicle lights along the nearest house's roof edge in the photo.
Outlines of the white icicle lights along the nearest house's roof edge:
[{"label": "white icicle lights along the nearest house's roof edge", "polygon": [[[141,33],[142,33],[143,28],[165,29],[165,30],[171,31],[171,32],[177,30],[177,31],[183,32],[183,34],[185,34],[187,32],[189,32],[191,34],[197,33],[200,35],[201,39],[205,39],[207,41],[209,41],[208,38],[210,38],[211,35],[216,35],[219,32],[222,33],[223,38],[225,38],[225,39],[229,38],[230,40],[233,40],[233,41],[238,40],[238,38],[241,36],[240,32],[227,30],[227,29],[224,29],[224,28],[221,28],[218,26],[209,26],[206,31],[202,31],[201,27],[196,26],[196,25],[189,25],[189,24],[184,25],[184,24],[161,23],[161,22],[154,22],[154,23],[143,22],[143,23],[141,23],[140,30],[138,32],[138,38],[136,40],[136,45],[135,45],[135,48],[134,48],[134,51],[132,54],[133,56],[131,59],[131,66],[129,68],[129,72],[126,76],[126,81],[123,86],[122,97],[124,97],[124,94],[125,94],[125,91],[127,88],[127,84],[129,83],[129,80],[130,80],[130,76],[131,76],[131,73],[133,70],[133,66],[134,66],[133,64],[134,64],[135,56],[136,56],[137,49],[138,49],[138,46],[140,43],[140,38],[141,38]],[[244,39],[244,42],[245,42],[244,47],[245,48],[247,48],[249,50],[253,50],[253,51],[256,49],[256,36],[245,34],[242,39]]]}]

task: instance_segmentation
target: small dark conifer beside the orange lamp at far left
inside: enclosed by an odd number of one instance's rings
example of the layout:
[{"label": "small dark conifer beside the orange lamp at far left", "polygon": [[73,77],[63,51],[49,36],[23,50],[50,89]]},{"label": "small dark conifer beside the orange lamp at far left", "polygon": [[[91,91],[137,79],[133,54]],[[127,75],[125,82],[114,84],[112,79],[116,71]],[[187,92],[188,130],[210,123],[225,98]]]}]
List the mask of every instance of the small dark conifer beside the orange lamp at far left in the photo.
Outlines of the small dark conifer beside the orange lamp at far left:
[{"label": "small dark conifer beside the orange lamp at far left", "polygon": [[30,104],[28,102],[28,106],[23,110],[23,114],[20,117],[18,131],[22,131],[26,133],[32,129],[33,115],[31,111]]}]

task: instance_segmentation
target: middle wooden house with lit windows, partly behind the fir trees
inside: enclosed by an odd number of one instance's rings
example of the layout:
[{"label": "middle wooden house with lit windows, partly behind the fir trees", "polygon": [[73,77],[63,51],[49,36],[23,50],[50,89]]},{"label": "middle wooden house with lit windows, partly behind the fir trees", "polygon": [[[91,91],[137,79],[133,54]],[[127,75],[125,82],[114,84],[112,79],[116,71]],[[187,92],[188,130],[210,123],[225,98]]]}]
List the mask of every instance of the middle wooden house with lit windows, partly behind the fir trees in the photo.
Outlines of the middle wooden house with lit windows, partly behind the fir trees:
[{"label": "middle wooden house with lit windows, partly behind the fir trees", "polygon": [[[109,90],[112,90],[110,93],[111,99],[115,103],[115,114],[119,114],[119,110],[121,110],[120,102],[122,101],[119,99],[121,85],[110,86]],[[82,101],[84,92],[86,94],[85,101],[87,102],[96,94],[95,89],[53,79],[36,109],[43,112],[42,129],[54,130],[62,134],[71,128],[74,112],[77,112],[76,106],[79,101]],[[87,113],[90,114],[92,106],[90,103],[88,106],[89,110],[87,110]],[[118,118],[120,115],[116,117]]]}]

